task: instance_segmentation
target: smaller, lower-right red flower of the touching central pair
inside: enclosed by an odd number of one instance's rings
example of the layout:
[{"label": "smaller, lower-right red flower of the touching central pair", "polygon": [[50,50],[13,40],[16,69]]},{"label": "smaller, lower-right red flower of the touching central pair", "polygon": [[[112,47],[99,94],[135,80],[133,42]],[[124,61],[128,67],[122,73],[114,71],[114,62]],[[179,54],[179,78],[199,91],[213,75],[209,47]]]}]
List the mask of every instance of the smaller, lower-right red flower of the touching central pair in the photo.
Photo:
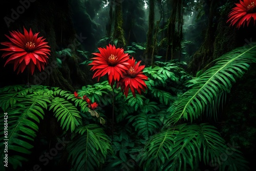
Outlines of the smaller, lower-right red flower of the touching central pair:
[{"label": "smaller, lower-right red flower of the touching central pair", "polygon": [[129,59],[130,69],[127,70],[122,79],[117,83],[117,88],[121,87],[121,90],[124,91],[125,96],[127,97],[129,89],[131,89],[133,96],[135,97],[135,89],[141,94],[141,90],[145,92],[146,84],[144,80],[147,80],[142,70],[145,66],[139,66],[141,61],[135,63],[135,59]]}]

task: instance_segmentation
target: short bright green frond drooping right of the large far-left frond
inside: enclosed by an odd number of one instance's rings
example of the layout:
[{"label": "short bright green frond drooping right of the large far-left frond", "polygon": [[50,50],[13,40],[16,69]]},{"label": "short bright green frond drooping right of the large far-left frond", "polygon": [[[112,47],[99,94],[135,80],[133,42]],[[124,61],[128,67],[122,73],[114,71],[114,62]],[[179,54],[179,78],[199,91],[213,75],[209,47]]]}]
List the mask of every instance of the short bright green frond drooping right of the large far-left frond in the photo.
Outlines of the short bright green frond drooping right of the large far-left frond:
[{"label": "short bright green frond drooping right of the large far-left frond", "polygon": [[53,110],[54,116],[60,121],[63,130],[66,128],[66,131],[70,129],[73,132],[75,127],[80,124],[80,112],[66,99],[53,98],[49,110]]}]

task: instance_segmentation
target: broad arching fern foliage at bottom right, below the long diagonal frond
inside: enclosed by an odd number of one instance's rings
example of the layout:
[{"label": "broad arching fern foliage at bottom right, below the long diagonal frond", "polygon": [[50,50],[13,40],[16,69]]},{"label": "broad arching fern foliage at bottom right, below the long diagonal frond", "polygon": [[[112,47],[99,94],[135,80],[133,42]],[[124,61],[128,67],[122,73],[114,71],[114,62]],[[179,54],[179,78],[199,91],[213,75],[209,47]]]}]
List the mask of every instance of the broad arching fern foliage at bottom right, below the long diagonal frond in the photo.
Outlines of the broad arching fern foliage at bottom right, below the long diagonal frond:
[{"label": "broad arching fern foliage at bottom right, below the long diagonal frond", "polygon": [[[240,152],[228,149],[216,128],[207,124],[177,125],[153,135],[144,149],[140,164],[145,169],[197,170],[202,160],[209,167],[218,164],[220,170],[247,168]],[[225,160],[221,158],[224,154],[228,156]]]}]

